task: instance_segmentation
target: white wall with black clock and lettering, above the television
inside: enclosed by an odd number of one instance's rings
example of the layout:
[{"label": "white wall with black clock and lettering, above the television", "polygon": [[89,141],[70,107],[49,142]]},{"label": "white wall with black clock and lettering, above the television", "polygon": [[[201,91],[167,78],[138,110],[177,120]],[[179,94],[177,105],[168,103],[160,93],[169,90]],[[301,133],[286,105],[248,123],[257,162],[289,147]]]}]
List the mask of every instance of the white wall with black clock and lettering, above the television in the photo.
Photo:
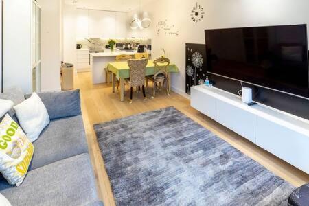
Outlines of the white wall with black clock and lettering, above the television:
[{"label": "white wall with black clock and lettering, above the television", "polygon": [[[154,57],[161,56],[161,48],[165,49],[168,58],[181,70],[172,76],[172,89],[182,94],[185,93],[185,43],[205,43],[205,29],[309,23],[308,0],[201,0],[198,3],[205,15],[196,25],[190,19],[196,1],[158,0],[142,9],[151,16],[152,27],[128,30],[128,36],[152,38]],[[128,21],[136,13],[130,12]],[[157,23],[165,19],[175,25],[179,36],[157,36]]]}]

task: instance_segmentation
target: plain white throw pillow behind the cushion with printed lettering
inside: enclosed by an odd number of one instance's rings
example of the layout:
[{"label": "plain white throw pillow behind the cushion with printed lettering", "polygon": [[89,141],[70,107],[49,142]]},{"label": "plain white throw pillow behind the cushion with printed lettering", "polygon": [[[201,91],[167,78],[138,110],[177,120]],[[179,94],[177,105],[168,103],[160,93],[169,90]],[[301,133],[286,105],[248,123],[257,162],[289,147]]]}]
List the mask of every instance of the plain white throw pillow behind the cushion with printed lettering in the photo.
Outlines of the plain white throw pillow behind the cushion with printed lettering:
[{"label": "plain white throw pillow behind the cushion with printed lettering", "polygon": [[49,124],[49,115],[41,98],[36,93],[14,106],[19,124],[31,142],[36,141],[42,130]]}]

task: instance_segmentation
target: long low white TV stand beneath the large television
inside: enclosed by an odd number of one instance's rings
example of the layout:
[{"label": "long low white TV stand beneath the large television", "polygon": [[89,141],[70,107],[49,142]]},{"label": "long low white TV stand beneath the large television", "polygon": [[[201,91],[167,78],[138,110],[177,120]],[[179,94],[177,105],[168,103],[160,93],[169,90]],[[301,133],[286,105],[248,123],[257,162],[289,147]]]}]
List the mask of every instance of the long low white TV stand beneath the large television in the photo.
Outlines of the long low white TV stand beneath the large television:
[{"label": "long low white TV stand beneath the large television", "polygon": [[273,155],[309,174],[309,121],[269,108],[248,106],[232,93],[191,88],[191,106]]}]

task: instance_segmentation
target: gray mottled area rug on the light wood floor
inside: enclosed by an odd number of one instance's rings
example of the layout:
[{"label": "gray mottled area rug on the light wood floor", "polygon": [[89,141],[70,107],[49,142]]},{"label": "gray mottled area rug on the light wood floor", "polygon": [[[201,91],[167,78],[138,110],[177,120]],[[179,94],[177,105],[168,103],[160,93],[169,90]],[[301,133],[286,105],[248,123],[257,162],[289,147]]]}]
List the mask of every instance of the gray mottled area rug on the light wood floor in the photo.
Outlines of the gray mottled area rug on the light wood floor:
[{"label": "gray mottled area rug on the light wood floor", "polygon": [[117,205],[287,205],[294,187],[174,107],[93,126]]}]

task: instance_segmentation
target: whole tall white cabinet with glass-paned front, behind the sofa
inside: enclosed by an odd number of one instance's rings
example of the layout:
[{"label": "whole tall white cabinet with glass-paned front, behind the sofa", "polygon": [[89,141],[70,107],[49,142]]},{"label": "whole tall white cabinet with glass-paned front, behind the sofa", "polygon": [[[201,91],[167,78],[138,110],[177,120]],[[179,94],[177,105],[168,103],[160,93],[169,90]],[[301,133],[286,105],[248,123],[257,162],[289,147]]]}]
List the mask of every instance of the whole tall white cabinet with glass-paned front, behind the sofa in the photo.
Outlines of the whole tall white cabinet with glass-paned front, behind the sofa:
[{"label": "whole tall white cabinet with glass-paned front, behind the sofa", "polygon": [[[3,1],[3,87],[41,90],[41,8],[34,0]],[[21,35],[23,34],[23,35]]]}]

